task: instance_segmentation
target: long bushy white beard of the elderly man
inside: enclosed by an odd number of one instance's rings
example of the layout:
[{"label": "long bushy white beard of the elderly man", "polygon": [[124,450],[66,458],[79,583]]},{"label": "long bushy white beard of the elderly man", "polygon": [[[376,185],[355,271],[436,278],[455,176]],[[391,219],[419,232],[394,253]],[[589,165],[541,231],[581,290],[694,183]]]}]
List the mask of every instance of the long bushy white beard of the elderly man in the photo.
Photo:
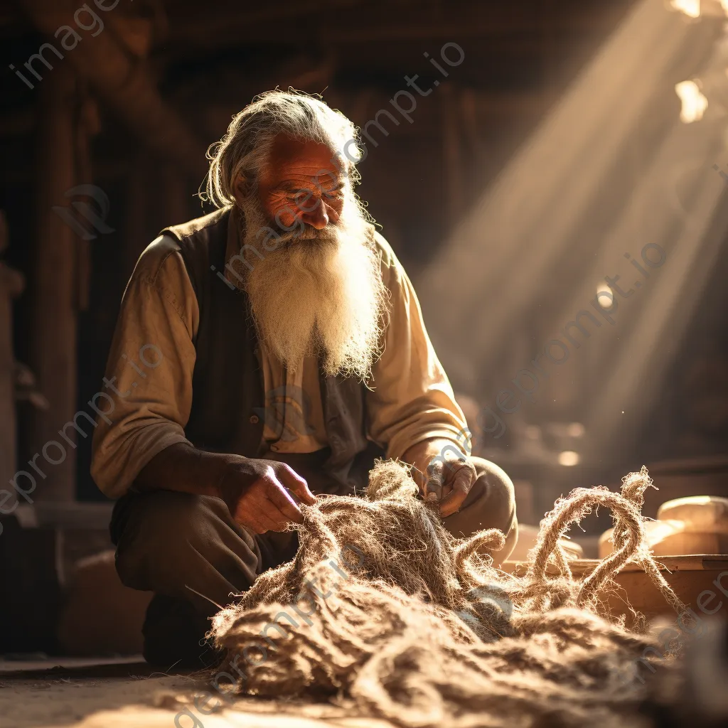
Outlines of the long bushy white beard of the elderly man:
[{"label": "long bushy white beard of the elderly man", "polygon": [[352,197],[336,225],[306,226],[270,252],[260,232],[265,217],[257,202],[248,202],[243,242],[259,254],[244,248],[252,266],[245,289],[258,336],[291,371],[317,355],[328,376],[366,381],[381,351],[388,292],[371,225]]}]

